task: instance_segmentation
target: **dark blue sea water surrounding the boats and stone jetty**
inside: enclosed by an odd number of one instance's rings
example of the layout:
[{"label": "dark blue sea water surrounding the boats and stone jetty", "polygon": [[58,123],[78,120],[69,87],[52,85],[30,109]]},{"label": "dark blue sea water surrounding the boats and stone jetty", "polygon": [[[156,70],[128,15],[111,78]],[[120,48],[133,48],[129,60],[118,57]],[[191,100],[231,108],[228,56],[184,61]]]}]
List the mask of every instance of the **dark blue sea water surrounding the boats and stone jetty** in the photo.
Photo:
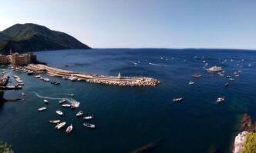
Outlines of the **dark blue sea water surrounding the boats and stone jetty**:
[{"label": "dark blue sea water surrounding the boats and stone jetty", "polygon": [[[161,84],[125,88],[49,77],[62,83],[53,86],[23,73],[9,72],[19,75],[25,86],[22,91],[5,91],[4,97],[19,98],[21,92],[27,93],[24,102],[8,102],[0,108],[0,138],[11,144],[15,152],[130,152],[159,138],[163,141],[155,152],[214,149],[229,152],[241,115],[246,112],[256,118],[256,52],[95,49],[36,52],[36,55],[41,62],[58,68],[103,75],[121,72],[127,76],[149,76],[159,79]],[[224,59],[226,63],[222,63]],[[230,81],[229,88],[224,88],[227,78],[207,74],[204,60],[209,66],[221,66],[227,75],[237,70],[242,71],[241,75]],[[191,78],[194,73],[203,77]],[[188,85],[189,81],[195,84]],[[54,98],[70,98],[66,94],[73,93],[74,99],[81,103],[79,109],[96,116],[91,122],[97,129],[84,128],[83,119],[75,116],[77,110],[61,108],[58,100],[49,99],[48,109],[38,112],[37,108],[44,105],[43,98],[37,97],[34,91]],[[215,101],[222,95],[226,101],[217,105]],[[184,97],[184,101],[179,104],[171,101],[178,97]],[[63,117],[56,115],[57,109],[64,112]],[[48,123],[56,118],[72,123],[72,135]]]}]

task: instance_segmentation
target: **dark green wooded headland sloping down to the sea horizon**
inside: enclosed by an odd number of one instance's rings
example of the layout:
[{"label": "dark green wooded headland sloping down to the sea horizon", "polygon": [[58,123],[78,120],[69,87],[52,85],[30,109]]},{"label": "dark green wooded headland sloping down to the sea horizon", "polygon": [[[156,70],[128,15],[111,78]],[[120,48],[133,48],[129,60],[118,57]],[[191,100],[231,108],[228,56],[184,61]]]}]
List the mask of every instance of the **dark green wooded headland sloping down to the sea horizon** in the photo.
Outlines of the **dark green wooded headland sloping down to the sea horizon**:
[{"label": "dark green wooded headland sloping down to the sea horizon", "polygon": [[90,49],[88,45],[64,33],[32,23],[16,24],[0,32],[0,54],[9,50],[36,52],[61,49]]}]

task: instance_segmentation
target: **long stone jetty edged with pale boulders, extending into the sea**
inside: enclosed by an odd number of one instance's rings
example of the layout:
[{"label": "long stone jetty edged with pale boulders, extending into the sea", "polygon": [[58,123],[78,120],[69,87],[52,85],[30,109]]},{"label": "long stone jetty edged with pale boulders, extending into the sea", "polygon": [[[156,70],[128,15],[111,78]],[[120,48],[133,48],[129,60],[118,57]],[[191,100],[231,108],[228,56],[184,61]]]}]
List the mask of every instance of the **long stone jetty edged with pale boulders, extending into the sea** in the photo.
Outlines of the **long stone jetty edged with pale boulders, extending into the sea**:
[{"label": "long stone jetty edged with pale boulders, extending into the sea", "polygon": [[118,76],[92,75],[92,74],[86,74],[81,72],[62,70],[59,68],[52,68],[47,65],[41,65],[41,64],[29,64],[25,66],[25,68],[33,72],[44,72],[48,75],[53,75],[53,76],[62,77],[62,78],[76,78],[79,81],[87,81],[90,83],[97,83],[102,85],[144,87],[144,86],[156,86],[160,83],[160,81],[154,78],[121,77],[120,74]]}]

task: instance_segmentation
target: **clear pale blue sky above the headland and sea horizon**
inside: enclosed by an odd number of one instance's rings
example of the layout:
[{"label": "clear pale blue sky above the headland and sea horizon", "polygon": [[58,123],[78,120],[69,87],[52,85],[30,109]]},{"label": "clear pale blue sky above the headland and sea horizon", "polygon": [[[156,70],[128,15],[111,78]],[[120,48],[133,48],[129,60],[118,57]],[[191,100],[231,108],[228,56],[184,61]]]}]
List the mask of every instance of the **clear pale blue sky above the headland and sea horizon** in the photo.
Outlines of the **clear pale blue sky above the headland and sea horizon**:
[{"label": "clear pale blue sky above the headland and sea horizon", "polygon": [[256,49],[256,0],[0,0],[0,31],[27,22],[93,48]]}]

